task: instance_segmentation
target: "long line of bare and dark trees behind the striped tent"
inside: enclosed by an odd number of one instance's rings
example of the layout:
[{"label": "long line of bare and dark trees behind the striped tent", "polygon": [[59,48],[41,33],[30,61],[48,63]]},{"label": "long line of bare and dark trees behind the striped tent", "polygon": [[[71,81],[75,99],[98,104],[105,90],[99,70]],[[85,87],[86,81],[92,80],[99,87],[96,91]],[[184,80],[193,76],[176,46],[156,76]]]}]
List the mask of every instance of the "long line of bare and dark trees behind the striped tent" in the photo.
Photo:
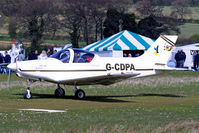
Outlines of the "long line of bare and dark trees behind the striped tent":
[{"label": "long line of bare and dark trees behind the striped tent", "polygon": [[8,18],[11,38],[20,36],[38,47],[44,38],[54,40],[57,34],[67,33],[78,48],[79,41],[89,44],[122,30],[153,39],[161,33],[179,33],[177,26],[190,13],[189,0],[173,1],[170,16],[163,15],[158,1],[1,0],[0,11]]}]

